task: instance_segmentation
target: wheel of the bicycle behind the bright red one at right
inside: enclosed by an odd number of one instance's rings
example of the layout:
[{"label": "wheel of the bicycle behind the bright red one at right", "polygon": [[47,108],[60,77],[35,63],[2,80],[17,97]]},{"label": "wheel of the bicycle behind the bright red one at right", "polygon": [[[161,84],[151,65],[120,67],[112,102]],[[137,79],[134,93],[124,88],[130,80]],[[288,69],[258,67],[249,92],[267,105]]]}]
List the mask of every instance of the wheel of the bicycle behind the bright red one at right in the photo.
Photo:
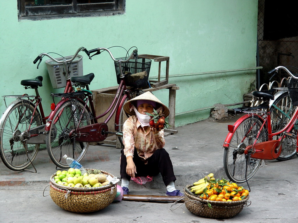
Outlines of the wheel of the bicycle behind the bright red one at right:
[{"label": "wheel of the bicycle behind the bright red one at right", "polygon": [[[292,101],[288,92],[284,92],[277,99],[274,100],[273,105],[270,108],[271,116],[271,128],[272,133],[280,131],[285,127],[290,118],[295,112],[296,106],[292,105]],[[292,129],[291,133],[293,136],[285,136],[285,139],[282,141],[282,151],[280,156],[276,158],[278,161],[285,161],[294,158],[296,154],[296,145],[297,145],[297,129]],[[278,139],[280,136],[274,136],[274,139]]]}]

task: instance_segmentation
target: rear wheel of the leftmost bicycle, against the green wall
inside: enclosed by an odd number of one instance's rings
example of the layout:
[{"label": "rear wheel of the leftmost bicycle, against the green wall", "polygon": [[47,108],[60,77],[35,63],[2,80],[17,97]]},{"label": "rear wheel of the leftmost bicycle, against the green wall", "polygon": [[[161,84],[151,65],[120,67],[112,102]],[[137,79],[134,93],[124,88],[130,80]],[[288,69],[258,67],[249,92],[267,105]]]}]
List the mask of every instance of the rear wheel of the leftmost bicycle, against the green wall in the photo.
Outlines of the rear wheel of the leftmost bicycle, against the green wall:
[{"label": "rear wheel of the leftmost bicycle, against the green wall", "polygon": [[[0,156],[4,165],[20,171],[30,166],[38,153],[39,144],[27,144],[27,152],[20,136],[31,121],[34,104],[29,100],[15,100],[4,111],[0,120]],[[42,125],[41,115],[35,111],[31,128]],[[28,155],[28,156],[27,156]]]}]

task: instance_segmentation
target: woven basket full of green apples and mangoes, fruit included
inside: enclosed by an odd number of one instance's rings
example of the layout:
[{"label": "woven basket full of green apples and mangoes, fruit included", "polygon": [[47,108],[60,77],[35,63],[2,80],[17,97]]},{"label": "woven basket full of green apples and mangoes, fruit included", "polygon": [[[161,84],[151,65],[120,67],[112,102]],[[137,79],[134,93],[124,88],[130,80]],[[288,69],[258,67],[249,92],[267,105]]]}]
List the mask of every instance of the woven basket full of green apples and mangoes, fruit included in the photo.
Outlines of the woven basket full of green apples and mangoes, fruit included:
[{"label": "woven basket full of green apples and mangoes, fruit included", "polygon": [[58,170],[50,178],[50,196],[60,208],[67,211],[99,211],[116,197],[119,180],[115,178],[98,169],[87,169],[83,175],[79,169]]}]

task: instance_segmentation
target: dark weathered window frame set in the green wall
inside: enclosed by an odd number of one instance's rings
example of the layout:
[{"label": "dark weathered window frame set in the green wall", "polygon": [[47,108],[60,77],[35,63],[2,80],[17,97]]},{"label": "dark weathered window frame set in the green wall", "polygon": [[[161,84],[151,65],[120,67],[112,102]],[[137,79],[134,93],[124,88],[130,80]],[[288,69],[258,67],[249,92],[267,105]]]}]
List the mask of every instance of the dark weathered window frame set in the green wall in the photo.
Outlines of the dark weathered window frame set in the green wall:
[{"label": "dark weathered window frame set in the green wall", "polygon": [[18,0],[18,19],[55,19],[65,17],[91,17],[121,15],[125,13],[126,0],[111,0],[110,3],[78,4],[72,0],[71,5],[25,6],[25,0]]}]

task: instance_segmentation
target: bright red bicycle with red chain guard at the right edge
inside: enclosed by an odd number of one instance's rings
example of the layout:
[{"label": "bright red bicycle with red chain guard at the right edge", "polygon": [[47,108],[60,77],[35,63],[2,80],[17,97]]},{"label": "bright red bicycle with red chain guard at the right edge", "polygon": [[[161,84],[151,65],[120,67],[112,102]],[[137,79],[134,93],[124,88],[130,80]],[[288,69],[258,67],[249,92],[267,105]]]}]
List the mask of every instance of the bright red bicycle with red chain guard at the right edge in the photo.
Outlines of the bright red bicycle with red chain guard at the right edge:
[{"label": "bright red bicycle with red chain guard at the right edge", "polygon": [[[228,125],[224,141],[224,169],[235,183],[247,182],[257,172],[262,160],[289,160],[297,155],[298,77],[286,67],[278,66],[268,73],[285,70],[291,78],[288,93],[274,100],[269,91],[252,94],[263,103],[257,107],[234,109],[246,113],[234,125]],[[270,100],[274,100],[269,108]]]}]

